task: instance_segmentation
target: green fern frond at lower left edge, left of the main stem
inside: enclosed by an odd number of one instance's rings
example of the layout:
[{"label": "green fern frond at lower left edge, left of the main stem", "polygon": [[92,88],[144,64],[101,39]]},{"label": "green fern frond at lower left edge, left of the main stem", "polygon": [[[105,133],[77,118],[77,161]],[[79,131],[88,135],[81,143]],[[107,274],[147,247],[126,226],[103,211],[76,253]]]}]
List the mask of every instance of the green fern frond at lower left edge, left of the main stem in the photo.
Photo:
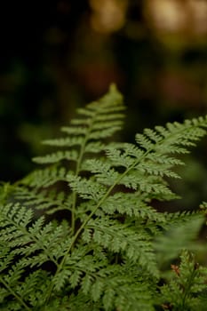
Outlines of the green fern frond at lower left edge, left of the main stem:
[{"label": "green fern frond at lower left edge, left of the main stem", "polygon": [[[21,307],[29,310],[29,304],[24,302],[26,293],[22,291],[22,287],[18,288],[18,283],[23,282],[26,268],[33,271],[34,267],[41,267],[45,262],[51,262],[56,267],[62,254],[67,251],[69,228],[65,225],[54,227],[52,223],[45,225],[44,217],[34,222],[32,211],[26,210],[20,204],[8,204],[1,209],[0,227],[0,245],[5,250],[1,254],[0,265],[0,283],[4,286],[4,298],[16,292],[14,298]],[[14,260],[17,260],[16,264],[13,264]],[[29,279],[24,280],[25,286],[28,281]]]}]

